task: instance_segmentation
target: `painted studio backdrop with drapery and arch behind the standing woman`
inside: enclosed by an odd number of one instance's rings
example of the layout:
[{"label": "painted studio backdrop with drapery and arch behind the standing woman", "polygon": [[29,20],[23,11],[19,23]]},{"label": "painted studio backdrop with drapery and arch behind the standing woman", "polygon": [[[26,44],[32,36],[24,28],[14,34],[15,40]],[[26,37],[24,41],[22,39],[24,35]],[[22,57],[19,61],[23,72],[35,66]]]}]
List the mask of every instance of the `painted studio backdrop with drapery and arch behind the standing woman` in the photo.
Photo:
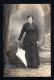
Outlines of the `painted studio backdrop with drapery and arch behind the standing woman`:
[{"label": "painted studio backdrop with drapery and arch behind the standing woman", "polygon": [[[40,62],[51,61],[50,10],[50,4],[3,4],[4,53],[7,55],[10,64],[22,64],[22,62],[16,57],[18,49],[17,40],[23,24],[27,22],[27,16],[30,14],[34,16],[34,22],[39,29]],[[25,34],[26,33],[24,33],[21,39],[21,47],[23,47]]]}]

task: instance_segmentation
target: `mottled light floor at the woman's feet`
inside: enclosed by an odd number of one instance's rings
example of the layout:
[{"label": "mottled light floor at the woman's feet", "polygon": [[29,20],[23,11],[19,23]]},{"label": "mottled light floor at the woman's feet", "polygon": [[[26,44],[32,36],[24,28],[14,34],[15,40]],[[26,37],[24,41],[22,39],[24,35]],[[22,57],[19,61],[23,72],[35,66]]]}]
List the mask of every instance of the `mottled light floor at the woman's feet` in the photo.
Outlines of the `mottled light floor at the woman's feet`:
[{"label": "mottled light floor at the woman's feet", "polygon": [[[6,67],[7,68],[7,67]],[[4,68],[4,77],[50,77],[51,64],[41,63],[38,69],[25,69],[9,67],[8,71]]]}]

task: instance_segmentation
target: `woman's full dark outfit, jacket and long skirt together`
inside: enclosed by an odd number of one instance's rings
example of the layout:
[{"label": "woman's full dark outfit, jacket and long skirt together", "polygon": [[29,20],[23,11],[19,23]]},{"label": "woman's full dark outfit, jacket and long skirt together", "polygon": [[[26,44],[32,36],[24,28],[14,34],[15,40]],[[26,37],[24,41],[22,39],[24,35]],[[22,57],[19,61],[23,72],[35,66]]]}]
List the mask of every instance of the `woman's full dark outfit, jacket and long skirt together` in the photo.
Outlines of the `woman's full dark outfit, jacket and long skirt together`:
[{"label": "woman's full dark outfit, jacket and long skirt together", "polygon": [[40,65],[37,41],[39,41],[39,30],[35,23],[31,25],[27,22],[23,25],[21,34],[18,40],[21,40],[23,33],[26,32],[23,49],[26,51],[25,57],[27,60],[27,67],[36,68]]}]

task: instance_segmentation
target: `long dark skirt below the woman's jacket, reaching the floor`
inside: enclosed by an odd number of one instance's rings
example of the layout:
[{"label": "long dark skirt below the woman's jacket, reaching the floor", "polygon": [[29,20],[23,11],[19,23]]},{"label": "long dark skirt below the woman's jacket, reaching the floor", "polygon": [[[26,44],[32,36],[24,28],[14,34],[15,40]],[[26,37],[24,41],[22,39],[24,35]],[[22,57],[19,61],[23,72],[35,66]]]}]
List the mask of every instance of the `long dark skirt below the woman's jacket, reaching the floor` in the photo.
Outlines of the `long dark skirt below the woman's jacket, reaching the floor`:
[{"label": "long dark skirt below the woman's jacket, reaching the floor", "polygon": [[40,65],[38,48],[36,45],[24,45],[25,57],[28,68],[36,68]]}]

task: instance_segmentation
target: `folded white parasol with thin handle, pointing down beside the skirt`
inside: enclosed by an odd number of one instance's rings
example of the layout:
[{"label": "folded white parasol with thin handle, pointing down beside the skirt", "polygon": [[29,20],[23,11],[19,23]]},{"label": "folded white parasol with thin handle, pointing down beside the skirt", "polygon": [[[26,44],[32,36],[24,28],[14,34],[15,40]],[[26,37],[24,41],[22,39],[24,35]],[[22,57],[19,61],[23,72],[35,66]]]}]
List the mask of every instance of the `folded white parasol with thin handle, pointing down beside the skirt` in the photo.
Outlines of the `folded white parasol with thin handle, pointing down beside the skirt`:
[{"label": "folded white parasol with thin handle, pointing down beside the skirt", "polygon": [[27,67],[27,62],[26,62],[26,58],[25,58],[25,51],[22,48],[19,48],[18,45],[18,50],[16,53],[16,56],[24,63],[24,65]]}]

